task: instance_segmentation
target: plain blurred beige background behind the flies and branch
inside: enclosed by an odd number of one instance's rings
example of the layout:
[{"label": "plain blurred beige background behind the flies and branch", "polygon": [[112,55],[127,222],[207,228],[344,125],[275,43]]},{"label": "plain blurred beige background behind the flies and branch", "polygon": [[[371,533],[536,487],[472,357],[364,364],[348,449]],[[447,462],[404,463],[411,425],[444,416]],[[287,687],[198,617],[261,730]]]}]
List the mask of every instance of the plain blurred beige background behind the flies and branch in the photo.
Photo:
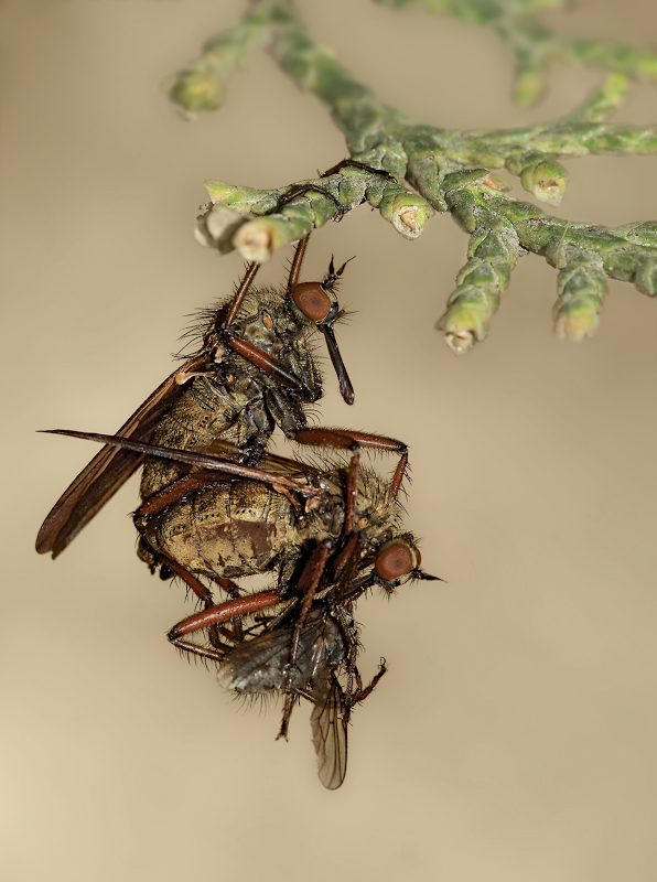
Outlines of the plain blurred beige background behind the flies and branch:
[{"label": "plain blurred beige background behind the flies and branch", "polygon": [[[387,101],[437,125],[570,110],[600,72],[557,67],[531,112],[508,100],[492,34],[367,2],[301,3]],[[612,282],[584,345],[551,334],[556,275],[527,257],[484,345],[456,359],[433,323],[464,260],[448,216],[407,243],[363,207],[311,244],[357,259],[323,420],[412,448],[408,524],[446,584],[360,604],[366,674],[336,793],[308,708],[241,712],[166,643],[191,611],[133,555],[131,482],[56,562],[33,540],[95,452],[40,428],[112,431],[170,372],[184,318],[241,261],[192,239],[206,178],[278,186],[343,158],[324,110],[269,58],[185,125],[158,90],[243,2],[2,4],[4,370],[3,880],[440,879],[648,882],[657,872],[657,313]],[[655,45],[653,0],[548,17]],[[368,35],[369,32],[369,35]],[[636,87],[618,119],[655,122]],[[657,159],[573,161],[559,212],[657,217]],[[518,191],[516,191],[518,192]],[[519,193],[521,196],[521,193]],[[282,278],[282,256],[266,270]]]}]

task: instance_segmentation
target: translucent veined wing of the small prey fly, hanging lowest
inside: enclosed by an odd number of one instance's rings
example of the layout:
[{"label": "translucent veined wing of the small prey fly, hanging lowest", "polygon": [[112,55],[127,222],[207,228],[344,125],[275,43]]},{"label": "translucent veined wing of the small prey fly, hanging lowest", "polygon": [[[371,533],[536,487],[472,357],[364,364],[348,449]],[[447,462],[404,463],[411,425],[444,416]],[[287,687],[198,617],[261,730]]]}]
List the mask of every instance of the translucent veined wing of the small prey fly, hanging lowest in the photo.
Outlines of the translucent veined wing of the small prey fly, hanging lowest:
[{"label": "translucent veined wing of the small prey fly, hanging lowest", "polygon": [[347,773],[347,721],[344,692],[334,674],[323,701],[313,707],[310,725],[320,781],[335,790]]}]

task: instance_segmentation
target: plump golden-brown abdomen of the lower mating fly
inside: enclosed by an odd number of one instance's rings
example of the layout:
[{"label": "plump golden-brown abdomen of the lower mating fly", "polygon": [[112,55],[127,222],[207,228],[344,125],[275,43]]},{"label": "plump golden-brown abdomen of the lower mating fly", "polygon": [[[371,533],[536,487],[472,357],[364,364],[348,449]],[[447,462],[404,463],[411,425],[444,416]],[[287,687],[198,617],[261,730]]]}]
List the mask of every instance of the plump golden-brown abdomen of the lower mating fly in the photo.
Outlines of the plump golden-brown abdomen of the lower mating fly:
[{"label": "plump golden-brown abdomen of the lower mating fly", "polygon": [[256,481],[212,484],[147,518],[147,542],[193,573],[234,579],[271,569],[293,544],[289,499]]}]

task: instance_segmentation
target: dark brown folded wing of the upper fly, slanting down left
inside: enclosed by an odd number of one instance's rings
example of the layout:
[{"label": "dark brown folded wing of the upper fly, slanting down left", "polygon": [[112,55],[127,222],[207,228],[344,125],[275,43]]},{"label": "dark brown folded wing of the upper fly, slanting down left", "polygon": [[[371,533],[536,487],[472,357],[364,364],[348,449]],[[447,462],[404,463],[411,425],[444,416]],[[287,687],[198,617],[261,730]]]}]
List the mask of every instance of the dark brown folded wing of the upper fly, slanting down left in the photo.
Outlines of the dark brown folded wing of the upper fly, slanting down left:
[{"label": "dark brown folded wing of the upper fly, slanting down left", "polygon": [[[149,441],[177,395],[180,385],[176,377],[186,372],[197,370],[204,363],[205,354],[198,353],[174,370],[136,410],[128,422],[121,426],[117,434],[137,441]],[[43,521],[36,537],[39,553],[45,555],[51,551],[53,558],[61,555],[82,528],[139,469],[142,461],[143,453],[106,444],[62,494]]]}]

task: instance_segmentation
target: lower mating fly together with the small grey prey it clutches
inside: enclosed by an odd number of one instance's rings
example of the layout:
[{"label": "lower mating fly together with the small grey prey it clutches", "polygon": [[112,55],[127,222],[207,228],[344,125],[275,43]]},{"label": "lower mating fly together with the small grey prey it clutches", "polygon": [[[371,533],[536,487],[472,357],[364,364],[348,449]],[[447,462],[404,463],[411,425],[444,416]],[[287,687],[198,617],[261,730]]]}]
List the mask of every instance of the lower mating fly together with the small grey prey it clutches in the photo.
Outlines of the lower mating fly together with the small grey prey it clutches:
[{"label": "lower mating fly together with the small grey prey it clutches", "polygon": [[[280,735],[287,736],[297,700],[310,700],[320,778],[326,787],[340,786],[352,708],[385,671],[381,665],[363,686],[354,603],[374,585],[392,592],[409,579],[433,578],[420,570],[416,541],[399,527],[403,445],[362,432],[309,429],[303,440],[308,433],[313,443],[349,448],[348,461],[311,465],[269,455],[252,467],[236,462],[237,449],[227,443],[224,456],[216,456],[111,435],[60,433],[193,466],[136,513],[149,547],[205,604],[175,625],[169,639],[219,663],[219,678],[238,693],[282,693]],[[391,482],[360,465],[360,447],[400,454]],[[277,574],[269,590],[244,595],[233,582],[267,572]],[[208,604],[198,577],[231,599]],[[200,633],[203,643],[194,642]]]}]

